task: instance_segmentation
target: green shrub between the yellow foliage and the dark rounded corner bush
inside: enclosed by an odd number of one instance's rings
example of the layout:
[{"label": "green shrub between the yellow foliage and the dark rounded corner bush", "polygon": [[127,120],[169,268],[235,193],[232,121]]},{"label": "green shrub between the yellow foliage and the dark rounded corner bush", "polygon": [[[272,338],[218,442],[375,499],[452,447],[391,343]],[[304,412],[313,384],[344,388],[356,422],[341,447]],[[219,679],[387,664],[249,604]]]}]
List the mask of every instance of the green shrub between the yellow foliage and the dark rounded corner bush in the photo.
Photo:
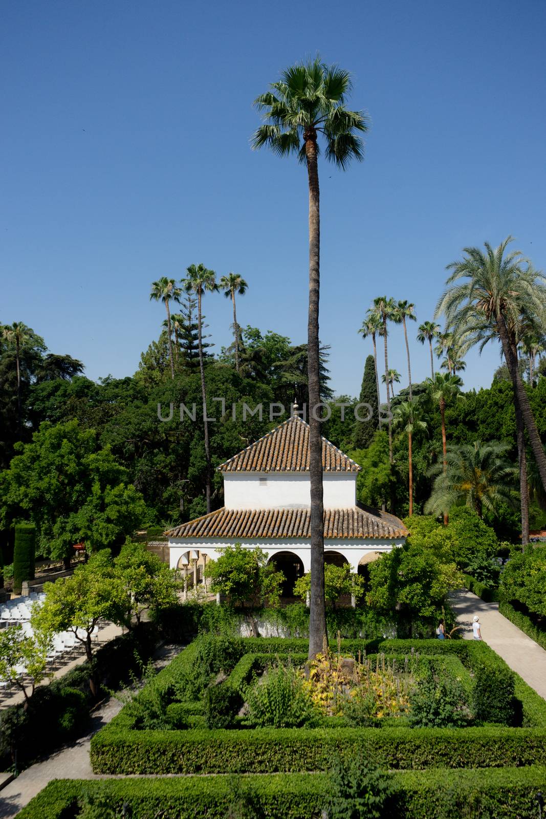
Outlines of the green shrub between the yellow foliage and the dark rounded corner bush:
[{"label": "green shrub between the yellow foliage and the dark rounded corner bush", "polygon": [[462,728],[467,725],[466,691],[450,676],[435,676],[429,667],[409,692],[409,724],[414,728]]}]

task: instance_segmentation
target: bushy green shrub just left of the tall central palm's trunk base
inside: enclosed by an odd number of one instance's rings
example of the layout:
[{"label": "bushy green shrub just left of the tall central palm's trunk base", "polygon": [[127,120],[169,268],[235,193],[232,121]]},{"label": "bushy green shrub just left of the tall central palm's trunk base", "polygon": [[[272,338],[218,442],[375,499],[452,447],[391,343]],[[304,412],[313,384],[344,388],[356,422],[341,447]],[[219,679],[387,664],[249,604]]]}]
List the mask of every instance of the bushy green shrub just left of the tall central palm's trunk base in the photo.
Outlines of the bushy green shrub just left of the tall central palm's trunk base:
[{"label": "bushy green shrub just left of the tall central palm's trunk base", "polygon": [[278,662],[246,691],[249,725],[297,728],[308,725],[316,712],[304,681],[288,663]]}]

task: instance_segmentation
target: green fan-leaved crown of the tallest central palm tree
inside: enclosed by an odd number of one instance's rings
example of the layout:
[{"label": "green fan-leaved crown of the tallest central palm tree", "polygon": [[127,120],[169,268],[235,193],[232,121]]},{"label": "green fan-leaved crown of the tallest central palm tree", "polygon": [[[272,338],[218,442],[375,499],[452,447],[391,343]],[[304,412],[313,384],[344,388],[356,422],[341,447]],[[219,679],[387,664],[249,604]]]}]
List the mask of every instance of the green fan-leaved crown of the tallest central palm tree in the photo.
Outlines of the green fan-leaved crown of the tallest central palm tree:
[{"label": "green fan-leaved crown of the tallest central palm tree", "polygon": [[352,88],[350,74],[338,66],[326,66],[318,57],[282,71],[270,91],[255,99],[264,124],[251,139],[254,149],[267,146],[279,156],[295,153],[300,162],[308,157],[307,142],[317,144],[318,133],[326,143],[325,156],[345,169],[352,159],[363,160],[358,132],[368,130],[363,111],[349,111],[345,100]]}]

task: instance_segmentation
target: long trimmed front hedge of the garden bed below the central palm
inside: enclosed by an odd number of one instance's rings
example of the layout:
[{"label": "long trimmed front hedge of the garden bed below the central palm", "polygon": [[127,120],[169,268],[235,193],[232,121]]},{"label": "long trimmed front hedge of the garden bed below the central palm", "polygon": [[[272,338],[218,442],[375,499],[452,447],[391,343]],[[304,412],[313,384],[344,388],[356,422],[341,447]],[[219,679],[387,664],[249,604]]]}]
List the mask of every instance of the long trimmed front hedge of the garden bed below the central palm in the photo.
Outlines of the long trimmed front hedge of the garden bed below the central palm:
[{"label": "long trimmed front hedge of the garden bed below the central palm", "polygon": [[546,729],[345,728],[133,731],[111,722],[91,740],[95,773],[327,771],[335,754],[358,753],[388,769],[531,765]]}]

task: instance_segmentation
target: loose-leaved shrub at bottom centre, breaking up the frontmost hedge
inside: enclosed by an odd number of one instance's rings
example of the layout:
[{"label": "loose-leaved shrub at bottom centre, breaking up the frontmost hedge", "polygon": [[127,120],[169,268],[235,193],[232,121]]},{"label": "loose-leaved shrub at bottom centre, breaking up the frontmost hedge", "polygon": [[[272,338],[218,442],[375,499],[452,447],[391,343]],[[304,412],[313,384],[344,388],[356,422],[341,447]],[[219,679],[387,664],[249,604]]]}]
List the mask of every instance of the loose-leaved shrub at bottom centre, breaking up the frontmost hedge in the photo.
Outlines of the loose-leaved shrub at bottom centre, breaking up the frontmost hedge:
[{"label": "loose-leaved shrub at bottom centre, breaking up the frontmost hedge", "polygon": [[381,819],[392,811],[392,776],[362,756],[336,758],[330,774],[328,819]]}]

